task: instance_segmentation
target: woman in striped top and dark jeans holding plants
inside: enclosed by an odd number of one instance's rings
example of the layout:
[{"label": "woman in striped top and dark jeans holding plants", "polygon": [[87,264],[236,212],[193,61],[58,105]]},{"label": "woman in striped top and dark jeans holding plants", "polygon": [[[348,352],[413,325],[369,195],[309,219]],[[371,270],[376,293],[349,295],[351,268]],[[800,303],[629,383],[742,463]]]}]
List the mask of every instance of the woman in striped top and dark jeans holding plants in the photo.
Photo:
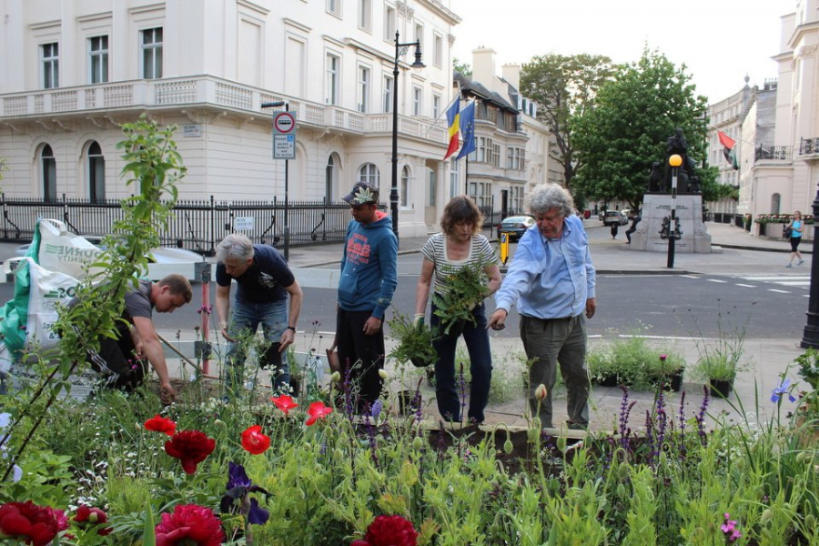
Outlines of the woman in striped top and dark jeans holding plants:
[{"label": "woman in striped top and dark jeans holding plants", "polygon": [[[450,289],[450,278],[461,268],[482,268],[489,278],[489,293],[501,286],[500,260],[487,238],[480,235],[483,215],[475,202],[467,196],[452,197],[440,218],[440,233],[434,234],[424,247],[418,288],[415,292],[415,321],[423,324],[430,298],[430,287],[438,298]],[[436,332],[432,347],[438,353],[435,362],[435,396],[438,411],[444,420],[460,422],[460,399],[455,377],[455,349],[461,333],[470,353],[470,422],[482,423],[483,410],[489,400],[492,379],[492,356],[489,332],[486,326],[486,306],[483,299],[475,301],[472,318],[457,335],[446,334],[440,328],[441,318],[432,299],[430,328]]]}]

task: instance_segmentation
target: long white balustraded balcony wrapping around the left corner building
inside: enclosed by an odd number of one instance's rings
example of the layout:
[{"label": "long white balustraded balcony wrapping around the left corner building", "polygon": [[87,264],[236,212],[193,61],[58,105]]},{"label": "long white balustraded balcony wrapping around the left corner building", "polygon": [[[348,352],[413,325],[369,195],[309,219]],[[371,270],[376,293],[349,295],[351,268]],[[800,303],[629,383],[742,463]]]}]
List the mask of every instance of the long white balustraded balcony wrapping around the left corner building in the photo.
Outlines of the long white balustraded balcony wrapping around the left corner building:
[{"label": "long white balustraded balcony wrapping around the left corner building", "polygon": [[[361,114],[340,106],[327,106],[300,98],[274,95],[213,76],[132,80],[94,86],[62,87],[0,96],[0,119],[66,114],[100,115],[116,110],[151,106],[212,105],[239,112],[264,113],[262,103],[283,100],[298,122],[333,127],[358,135],[392,131],[391,114]],[[446,142],[446,127],[416,116],[399,116],[399,134],[437,143]]]}]

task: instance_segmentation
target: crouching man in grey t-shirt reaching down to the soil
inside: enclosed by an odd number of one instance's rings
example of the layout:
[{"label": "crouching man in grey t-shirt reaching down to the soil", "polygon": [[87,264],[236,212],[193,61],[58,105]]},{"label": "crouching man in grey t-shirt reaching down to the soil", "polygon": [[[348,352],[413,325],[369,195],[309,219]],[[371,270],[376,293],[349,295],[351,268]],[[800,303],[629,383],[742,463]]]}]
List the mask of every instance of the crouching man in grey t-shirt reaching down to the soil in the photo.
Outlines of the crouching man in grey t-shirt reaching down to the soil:
[{"label": "crouching man in grey t-shirt reaching down to the soil", "polygon": [[100,338],[99,351],[89,351],[91,367],[103,374],[112,389],[136,389],[145,379],[143,359],[151,363],[159,376],[159,397],[169,404],[176,398],[167,373],[165,352],[159,343],[152,321],[153,310],[173,313],[193,297],[190,283],[182,275],[168,275],[159,282],[140,280],[136,290],[128,292],[122,319],[116,326],[116,339]]}]

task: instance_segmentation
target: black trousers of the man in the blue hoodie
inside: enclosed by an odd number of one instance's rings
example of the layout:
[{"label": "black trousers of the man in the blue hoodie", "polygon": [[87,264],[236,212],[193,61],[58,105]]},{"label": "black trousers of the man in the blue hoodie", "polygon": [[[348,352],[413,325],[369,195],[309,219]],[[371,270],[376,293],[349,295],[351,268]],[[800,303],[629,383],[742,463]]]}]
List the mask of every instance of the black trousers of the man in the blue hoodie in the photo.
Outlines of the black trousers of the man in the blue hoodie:
[{"label": "black trousers of the man in the blue hoodie", "polygon": [[349,370],[350,389],[358,399],[358,410],[379,399],[382,380],[379,369],[384,368],[384,329],[374,336],[364,334],[364,323],[372,311],[346,311],[339,308],[336,325],[336,349],[339,351],[341,377]]}]

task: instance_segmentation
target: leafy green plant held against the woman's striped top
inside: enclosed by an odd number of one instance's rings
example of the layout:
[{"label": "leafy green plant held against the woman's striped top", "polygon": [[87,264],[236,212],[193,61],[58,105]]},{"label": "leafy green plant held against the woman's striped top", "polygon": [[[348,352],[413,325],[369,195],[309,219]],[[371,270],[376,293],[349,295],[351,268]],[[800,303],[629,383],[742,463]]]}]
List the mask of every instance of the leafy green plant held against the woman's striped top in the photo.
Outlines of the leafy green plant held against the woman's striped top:
[{"label": "leafy green plant held against the woman's striped top", "polygon": [[432,294],[435,314],[440,317],[440,329],[449,334],[460,321],[476,324],[472,309],[489,295],[486,272],[480,264],[455,270],[442,266],[441,271],[447,277],[447,291]]}]

